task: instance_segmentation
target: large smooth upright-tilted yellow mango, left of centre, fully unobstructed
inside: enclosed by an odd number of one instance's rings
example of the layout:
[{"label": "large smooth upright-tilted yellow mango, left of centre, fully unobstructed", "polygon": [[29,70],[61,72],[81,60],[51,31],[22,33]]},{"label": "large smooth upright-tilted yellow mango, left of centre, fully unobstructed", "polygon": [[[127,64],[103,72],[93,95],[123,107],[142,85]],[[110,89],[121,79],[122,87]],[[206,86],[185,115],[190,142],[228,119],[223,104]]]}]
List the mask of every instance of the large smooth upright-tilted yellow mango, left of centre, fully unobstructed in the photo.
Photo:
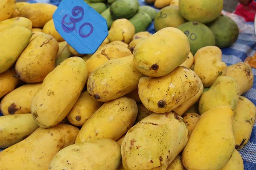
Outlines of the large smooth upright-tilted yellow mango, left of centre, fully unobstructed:
[{"label": "large smooth upright-tilted yellow mango, left of centre, fully unobstructed", "polygon": [[86,64],[80,57],[64,60],[49,73],[31,103],[38,125],[48,128],[61,122],[75,105],[86,79]]}]

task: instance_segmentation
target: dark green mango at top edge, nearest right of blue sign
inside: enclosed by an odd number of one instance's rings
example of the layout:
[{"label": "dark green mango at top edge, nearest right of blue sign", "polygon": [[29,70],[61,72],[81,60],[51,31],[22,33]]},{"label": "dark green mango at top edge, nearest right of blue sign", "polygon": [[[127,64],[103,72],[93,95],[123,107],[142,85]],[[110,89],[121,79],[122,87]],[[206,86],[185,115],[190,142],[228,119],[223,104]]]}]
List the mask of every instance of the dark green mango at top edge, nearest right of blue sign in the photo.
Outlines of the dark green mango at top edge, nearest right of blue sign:
[{"label": "dark green mango at top edge, nearest right of blue sign", "polygon": [[117,0],[110,6],[110,13],[114,19],[133,17],[140,7],[138,0]]}]

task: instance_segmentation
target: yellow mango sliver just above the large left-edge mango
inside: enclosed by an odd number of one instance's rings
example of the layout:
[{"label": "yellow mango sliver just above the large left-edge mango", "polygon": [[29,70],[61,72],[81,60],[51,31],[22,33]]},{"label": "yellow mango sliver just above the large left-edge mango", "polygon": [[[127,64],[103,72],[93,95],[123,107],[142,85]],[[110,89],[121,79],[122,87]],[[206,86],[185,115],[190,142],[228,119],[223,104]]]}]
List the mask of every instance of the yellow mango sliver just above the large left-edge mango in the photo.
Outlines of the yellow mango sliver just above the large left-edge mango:
[{"label": "yellow mango sliver just above the large left-edge mango", "polygon": [[29,19],[24,17],[15,17],[0,22],[0,31],[3,31],[13,26],[22,26],[28,28],[29,30],[32,30],[32,22]]}]

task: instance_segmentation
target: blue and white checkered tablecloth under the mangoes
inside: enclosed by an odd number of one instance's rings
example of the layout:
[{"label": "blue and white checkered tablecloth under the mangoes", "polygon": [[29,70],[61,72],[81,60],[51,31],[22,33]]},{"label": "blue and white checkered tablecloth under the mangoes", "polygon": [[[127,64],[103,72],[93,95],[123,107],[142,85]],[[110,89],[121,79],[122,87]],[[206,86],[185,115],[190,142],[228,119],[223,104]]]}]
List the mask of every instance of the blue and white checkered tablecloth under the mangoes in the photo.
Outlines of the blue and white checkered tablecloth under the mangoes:
[{"label": "blue and white checkered tablecloth under the mangoes", "polygon": [[[58,6],[61,0],[28,0],[27,2],[51,3]],[[146,5],[144,0],[139,0],[139,2],[141,6]],[[230,48],[222,49],[222,59],[227,63],[227,65],[232,65],[237,62],[244,62],[244,59],[247,56],[252,56],[256,52],[256,36],[254,34],[253,23],[239,23],[239,28],[240,34],[236,43]],[[151,26],[149,26],[148,31],[151,34],[155,33],[154,22],[151,24]],[[256,105],[256,69],[253,69],[253,75],[253,88],[244,94],[244,96],[250,99]],[[2,116],[1,112],[0,116]],[[239,150],[239,153],[244,160],[244,170],[256,170],[256,124],[253,127],[250,141],[242,150]]]}]

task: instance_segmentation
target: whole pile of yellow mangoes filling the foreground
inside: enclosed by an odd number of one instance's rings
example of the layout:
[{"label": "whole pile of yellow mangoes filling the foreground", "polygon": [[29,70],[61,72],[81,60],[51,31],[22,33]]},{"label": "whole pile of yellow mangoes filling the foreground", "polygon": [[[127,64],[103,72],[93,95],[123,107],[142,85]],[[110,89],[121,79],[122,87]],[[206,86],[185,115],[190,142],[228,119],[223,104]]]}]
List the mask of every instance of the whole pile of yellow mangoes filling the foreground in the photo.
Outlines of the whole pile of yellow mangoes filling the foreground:
[{"label": "whole pile of yellow mangoes filling the foreground", "polygon": [[248,64],[227,66],[216,46],[193,56],[179,29],[135,34],[127,19],[78,54],[55,9],[0,2],[0,170],[244,169]]}]

